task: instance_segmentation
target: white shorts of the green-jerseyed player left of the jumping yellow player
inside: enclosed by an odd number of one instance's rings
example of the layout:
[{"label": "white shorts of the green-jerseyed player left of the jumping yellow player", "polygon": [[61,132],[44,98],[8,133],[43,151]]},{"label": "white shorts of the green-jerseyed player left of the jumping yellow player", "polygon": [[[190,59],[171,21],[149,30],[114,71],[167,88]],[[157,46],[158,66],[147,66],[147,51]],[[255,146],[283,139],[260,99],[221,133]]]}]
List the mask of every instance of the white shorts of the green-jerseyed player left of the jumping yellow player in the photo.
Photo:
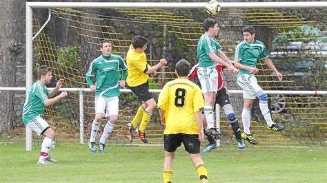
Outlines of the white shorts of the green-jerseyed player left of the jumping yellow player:
[{"label": "white shorts of the green-jerseyed player left of the jumping yellow player", "polygon": [[95,98],[95,113],[104,114],[106,117],[117,115],[119,110],[119,99],[118,96],[104,98],[97,96]]}]

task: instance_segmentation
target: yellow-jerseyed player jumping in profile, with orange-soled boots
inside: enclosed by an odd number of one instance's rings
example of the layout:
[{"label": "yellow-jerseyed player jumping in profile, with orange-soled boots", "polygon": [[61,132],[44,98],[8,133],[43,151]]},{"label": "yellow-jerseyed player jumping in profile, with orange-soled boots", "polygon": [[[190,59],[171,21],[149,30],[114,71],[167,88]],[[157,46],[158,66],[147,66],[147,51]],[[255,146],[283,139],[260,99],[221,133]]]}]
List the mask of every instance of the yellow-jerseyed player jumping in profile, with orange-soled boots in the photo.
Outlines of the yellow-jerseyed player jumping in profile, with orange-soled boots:
[{"label": "yellow-jerseyed player jumping in profile, with orange-soled boots", "polygon": [[144,142],[148,143],[146,139],[146,127],[151,119],[152,112],[157,107],[155,99],[149,92],[148,74],[156,74],[157,69],[167,64],[166,59],[161,59],[159,63],[153,67],[146,61],[146,54],[144,51],[147,48],[148,39],[143,36],[135,36],[132,39],[132,45],[128,50],[126,56],[126,63],[128,65],[127,85],[137,97],[143,101],[143,104],[137,110],[132,122],[127,124],[128,127],[128,139],[132,142],[132,130],[136,129],[138,123],[139,138]]}]

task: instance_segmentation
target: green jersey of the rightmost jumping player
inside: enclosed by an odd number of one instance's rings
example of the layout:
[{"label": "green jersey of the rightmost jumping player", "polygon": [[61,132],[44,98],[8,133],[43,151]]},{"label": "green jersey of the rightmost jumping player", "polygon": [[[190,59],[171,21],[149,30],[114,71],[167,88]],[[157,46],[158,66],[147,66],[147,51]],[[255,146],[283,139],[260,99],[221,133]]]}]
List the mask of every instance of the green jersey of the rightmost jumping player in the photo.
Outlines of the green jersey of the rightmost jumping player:
[{"label": "green jersey of the rightmost jumping player", "polygon": [[[256,67],[258,59],[268,58],[269,54],[261,41],[255,40],[252,44],[241,41],[235,49],[235,61],[239,61],[242,65]],[[239,69],[239,74],[250,74],[248,70]]]}]

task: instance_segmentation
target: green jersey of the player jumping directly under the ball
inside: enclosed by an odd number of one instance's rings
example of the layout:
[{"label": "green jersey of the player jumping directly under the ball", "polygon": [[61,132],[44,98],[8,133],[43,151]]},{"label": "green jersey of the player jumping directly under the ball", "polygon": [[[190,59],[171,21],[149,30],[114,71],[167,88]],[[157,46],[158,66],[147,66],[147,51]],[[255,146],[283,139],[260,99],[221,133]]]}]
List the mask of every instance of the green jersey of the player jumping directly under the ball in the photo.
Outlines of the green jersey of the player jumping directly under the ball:
[{"label": "green jersey of the player jumping directly under the ball", "polygon": [[215,66],[215,61],[212,61],[209,57],[211,53],[217,53],[218,50],[221,50],[217,39],[213,36],[208,36],[208,34],[202,34],[197,43],[197,58],[199,59],[199,67],[210,67]]}]

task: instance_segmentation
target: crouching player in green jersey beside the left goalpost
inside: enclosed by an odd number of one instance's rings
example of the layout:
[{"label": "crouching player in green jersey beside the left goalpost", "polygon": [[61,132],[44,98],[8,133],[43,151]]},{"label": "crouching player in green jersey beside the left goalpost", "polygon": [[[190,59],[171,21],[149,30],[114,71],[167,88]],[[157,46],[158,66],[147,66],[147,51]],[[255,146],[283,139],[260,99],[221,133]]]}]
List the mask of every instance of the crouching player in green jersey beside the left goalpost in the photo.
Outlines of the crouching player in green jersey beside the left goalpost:
[{"label": "crouching player in green jersey beside the left goalpost", "polygon": [[48,125],[48,122],[41,118],[41,114],[43,114],[44,107],[49,107],[50,105],[58,103],[60,99],[65,98],[68,94],[67,92],[61,92],[61,94],[54,97],[54,94],[56,94],[63,85],[63,79],[59,79],[56,87],[48,92],[46,85],[52,80],[52,72],[49,66],[40,66],[37,71],[37,78],[38,80],[28,90],[28,97],[23,106],[23,123],[26,127],[29,127],[32,131],[37,133],[38,136],[40,134],[45,136],[41,144],[40,156],[37,163],[50,164],[50,162],[56,161],[50,158],[49,155],[55,135],[53,129]]}]

